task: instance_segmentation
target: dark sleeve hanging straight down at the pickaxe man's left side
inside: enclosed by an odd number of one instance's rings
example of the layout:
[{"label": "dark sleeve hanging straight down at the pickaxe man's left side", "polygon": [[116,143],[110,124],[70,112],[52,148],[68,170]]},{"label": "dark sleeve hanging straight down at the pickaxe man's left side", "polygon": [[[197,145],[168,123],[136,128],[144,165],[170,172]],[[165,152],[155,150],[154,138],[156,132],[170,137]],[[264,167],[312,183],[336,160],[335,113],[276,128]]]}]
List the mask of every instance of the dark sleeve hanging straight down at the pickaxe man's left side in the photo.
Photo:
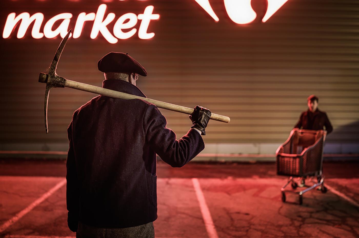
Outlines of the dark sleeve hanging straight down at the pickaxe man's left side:
[{"label": "dark sleeve hanging straight down at the pickaxe man's left side", "polygon": [[79,217],[79,191],[76,173],[76,161],[74,145],[72,140],[72,127],[71,121],[69,128],[67,128],[67,137],[69,139],[69,151],[67,152],[66,160],[66,206],[67,206],[67,225],[71,231],[76,232],[78,227]]}]

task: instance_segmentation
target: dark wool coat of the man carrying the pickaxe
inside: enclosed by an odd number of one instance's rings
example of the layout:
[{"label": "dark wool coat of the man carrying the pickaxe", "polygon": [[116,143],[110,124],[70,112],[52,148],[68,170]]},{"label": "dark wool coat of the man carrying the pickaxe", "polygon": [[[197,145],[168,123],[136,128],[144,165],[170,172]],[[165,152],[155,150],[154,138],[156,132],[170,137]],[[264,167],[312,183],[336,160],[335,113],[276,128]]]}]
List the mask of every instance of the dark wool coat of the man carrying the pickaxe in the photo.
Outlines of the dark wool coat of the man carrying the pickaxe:
[{"label": "dark wool coat of the man carrying the pickaxe", "polygon": [[[103,88],[145,97],[126,81],[107,79]],[[69,219],[102,228],[157,219],[156,153],[181,167],[204,149],[196,130],[176,140],[166,124],[158,108],[141,99],[97,96],[76,110],[67,129]]]}]

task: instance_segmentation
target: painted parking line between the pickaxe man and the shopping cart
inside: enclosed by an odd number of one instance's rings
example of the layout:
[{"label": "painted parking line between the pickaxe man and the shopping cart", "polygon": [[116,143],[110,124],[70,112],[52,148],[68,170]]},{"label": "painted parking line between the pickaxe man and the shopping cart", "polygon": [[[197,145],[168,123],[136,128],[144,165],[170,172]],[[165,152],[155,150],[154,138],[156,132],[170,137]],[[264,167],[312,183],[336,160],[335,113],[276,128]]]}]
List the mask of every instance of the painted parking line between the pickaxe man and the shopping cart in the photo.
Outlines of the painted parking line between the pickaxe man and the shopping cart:
[{"label": "painted parking line between the pickaxe man and the shopping cart", "polygon": [[216,228],[214,226],[214,223],[213,223],[213,220],[211,217],[211,213],[209,212],[206,200],[204,198],[200,182],[198,181],[197,178],[193,178],[192,183],[193,183],[193,186],[196,191],[198,202],[200,204],[200,209],[201,209],[202,217],[204,220],[204,224],[206,226],[208,236],[209,236],[209,238],[218,238],[218,234],[217,234]]}]

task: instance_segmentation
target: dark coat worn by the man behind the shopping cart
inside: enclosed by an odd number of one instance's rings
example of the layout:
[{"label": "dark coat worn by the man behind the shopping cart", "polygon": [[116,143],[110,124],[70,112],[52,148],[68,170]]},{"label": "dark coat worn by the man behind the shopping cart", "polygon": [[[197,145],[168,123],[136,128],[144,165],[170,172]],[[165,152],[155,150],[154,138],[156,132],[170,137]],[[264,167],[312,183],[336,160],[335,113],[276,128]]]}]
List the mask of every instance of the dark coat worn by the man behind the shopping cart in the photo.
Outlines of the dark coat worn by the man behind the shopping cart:
[{"label": "dark coat worn by the man behind the shopping cart", "polygon": [[325,112],[319,111],[317,109],[315,112],[311,112],[309,109],[302,112],[299,117],[299,121],[294,128],[302,127],[305,130],[325,130],[329,134],[333,131],[332,124],[329,121],[329,118]]}]

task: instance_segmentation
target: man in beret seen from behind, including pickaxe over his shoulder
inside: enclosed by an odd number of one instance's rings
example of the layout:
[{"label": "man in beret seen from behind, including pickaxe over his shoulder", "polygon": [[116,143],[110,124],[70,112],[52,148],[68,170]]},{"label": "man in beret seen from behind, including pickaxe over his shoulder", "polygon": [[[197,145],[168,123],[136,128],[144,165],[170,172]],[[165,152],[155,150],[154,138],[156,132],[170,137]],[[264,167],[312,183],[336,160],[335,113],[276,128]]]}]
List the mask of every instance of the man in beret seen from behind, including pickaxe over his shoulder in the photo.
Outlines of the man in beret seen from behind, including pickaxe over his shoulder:
[{"label": "man in beret seen from behind, including pickaxe over his shoulder", "polygon": [[[104,72],[102,87],[56,74],[64,37],[52,60],[46,83],[45,129],[51,88],[70,87],[100,94],[73,114],[67,128],[67,224],[76,237],[154,237],[157,219],[156,154],[181,167],[204,149],[201,135],[209,119],[230,118],[196,106],[194,109],[146,98],[136,87],[147,72],[127,53],[111,52],[98,62]],[[166,128],[159,108],[190,114],[191,129],[180,140]]]}]

